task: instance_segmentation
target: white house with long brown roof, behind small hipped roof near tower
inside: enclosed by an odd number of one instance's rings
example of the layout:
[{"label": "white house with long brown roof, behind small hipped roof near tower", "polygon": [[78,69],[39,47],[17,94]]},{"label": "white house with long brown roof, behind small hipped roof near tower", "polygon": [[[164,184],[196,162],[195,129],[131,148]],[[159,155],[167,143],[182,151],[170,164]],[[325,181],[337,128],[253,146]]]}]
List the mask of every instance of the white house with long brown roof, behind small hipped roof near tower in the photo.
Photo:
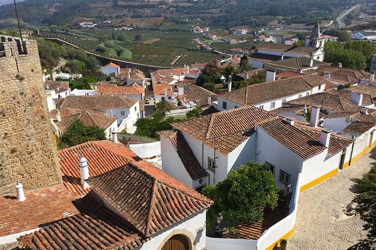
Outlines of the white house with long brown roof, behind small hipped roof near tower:
[{"label": "white house with long brown roof, behind small hipped roof near tower", "polygon": [[118,130],[121,131],[133,127],[139,118],[144,117],[140,101],[119,95],[67,96],[60,108],[90,109],[117,117]]}]

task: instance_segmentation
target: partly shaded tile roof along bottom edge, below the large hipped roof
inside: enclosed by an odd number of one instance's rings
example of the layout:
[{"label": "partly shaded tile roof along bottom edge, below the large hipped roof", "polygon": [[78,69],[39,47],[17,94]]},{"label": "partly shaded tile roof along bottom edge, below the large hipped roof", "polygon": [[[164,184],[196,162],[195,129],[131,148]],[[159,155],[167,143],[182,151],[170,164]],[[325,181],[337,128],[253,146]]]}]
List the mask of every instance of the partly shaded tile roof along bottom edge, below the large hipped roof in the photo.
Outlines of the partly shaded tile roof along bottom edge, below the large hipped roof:
[{"label": "partly shaded tile roof along bottom edge, below the large hipped roof", "polygon": [[[19,237],[20,248],[30,250],[131,250],[147,239],[127,221],[105,208],[95,194],[75,201],[82,211]],[[89,205],[88,205],[89,204]]]}]

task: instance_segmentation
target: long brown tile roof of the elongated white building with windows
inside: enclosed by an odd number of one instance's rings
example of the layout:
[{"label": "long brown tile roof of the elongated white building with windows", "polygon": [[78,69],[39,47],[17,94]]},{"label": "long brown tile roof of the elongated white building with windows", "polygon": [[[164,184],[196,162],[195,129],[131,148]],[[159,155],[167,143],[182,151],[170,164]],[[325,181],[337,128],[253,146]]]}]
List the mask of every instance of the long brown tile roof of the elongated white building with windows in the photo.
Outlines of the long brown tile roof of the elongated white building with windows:
[{"label": "long brown tile roof of the elongated white building with windows", "polygon": [[273,100],[304,91],[310,91],[313,87],[326,84],[327,80],[318,74],[298,76],[288,79],[248,85],[231,92],[220,95],[241,105],[253,105],[268,100]]}]

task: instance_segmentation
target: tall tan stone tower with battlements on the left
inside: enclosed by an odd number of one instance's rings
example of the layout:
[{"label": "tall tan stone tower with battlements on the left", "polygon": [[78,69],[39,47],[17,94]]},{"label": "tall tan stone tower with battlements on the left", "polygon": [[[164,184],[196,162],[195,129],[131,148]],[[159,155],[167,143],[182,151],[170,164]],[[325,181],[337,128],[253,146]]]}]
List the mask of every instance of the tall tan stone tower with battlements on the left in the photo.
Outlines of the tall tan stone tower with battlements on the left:
[{"label": "tall tan stone tower with battlements on the left", "polygon": [[37,42],[0,39],[0,194],[59,184]]}]

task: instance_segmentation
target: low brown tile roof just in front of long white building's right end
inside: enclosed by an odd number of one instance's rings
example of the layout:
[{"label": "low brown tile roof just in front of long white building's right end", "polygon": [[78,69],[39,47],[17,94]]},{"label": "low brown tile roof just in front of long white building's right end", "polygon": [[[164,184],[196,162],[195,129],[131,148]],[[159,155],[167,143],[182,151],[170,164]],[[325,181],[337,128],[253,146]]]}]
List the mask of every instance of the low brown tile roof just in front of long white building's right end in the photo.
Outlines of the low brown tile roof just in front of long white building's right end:
[{"label": "low brown tile roof just in front of long white building's right end", "polygon": [[335,112],[359,110],[359,106],[338,95],[316,93],[285,102],[287,105],[321,105],[323,110]]}]

